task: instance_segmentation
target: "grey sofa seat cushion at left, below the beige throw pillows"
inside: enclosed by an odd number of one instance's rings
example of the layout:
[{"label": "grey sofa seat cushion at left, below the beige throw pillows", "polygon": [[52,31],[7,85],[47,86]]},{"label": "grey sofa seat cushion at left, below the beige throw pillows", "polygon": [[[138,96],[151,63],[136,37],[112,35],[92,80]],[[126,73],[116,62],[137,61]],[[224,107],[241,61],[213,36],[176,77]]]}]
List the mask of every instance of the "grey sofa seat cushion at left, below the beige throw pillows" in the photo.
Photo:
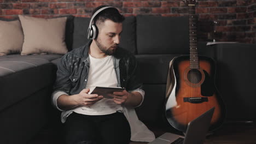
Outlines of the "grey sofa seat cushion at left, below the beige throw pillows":
[{"label": "grey sofa seat cushion at left, below the beige throw pillows", "polygon": [[56,66],[45,59],[0,60],[0,111],[52,85],[55,69]]}]

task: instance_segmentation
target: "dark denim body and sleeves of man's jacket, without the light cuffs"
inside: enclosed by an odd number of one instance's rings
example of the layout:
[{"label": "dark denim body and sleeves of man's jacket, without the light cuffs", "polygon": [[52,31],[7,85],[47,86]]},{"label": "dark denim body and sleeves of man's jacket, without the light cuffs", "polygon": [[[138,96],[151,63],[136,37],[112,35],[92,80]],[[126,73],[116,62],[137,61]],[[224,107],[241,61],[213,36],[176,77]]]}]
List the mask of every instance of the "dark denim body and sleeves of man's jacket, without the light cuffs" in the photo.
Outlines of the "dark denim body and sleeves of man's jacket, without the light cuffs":
[{"label": "dark denim body and sleeves of man's jacket, without the light cuffs", "polygon": [[[69,95],[78,94],[86,87],[90,60],[88,44],[74,49],[61,58],[58,64],[54,91],[63,91]],[[118,47],[114,52],[114,69],[117,74],[118,87],[124,87],[126,91],[141,89],[139,71],[135,56],[132,53]]]}]

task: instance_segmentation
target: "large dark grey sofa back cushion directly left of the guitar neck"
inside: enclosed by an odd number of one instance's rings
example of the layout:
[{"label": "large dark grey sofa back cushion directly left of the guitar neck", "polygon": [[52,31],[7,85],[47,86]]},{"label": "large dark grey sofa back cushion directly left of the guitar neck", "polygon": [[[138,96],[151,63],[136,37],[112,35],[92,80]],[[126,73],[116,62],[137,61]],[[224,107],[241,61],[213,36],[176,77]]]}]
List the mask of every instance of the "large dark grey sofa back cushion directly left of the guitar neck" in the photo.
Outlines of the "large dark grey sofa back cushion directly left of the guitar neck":
[{"label": "large dark grey sofa back cushion directly left of the guitar neck", "polygon": [[181,54],[189,52],[188,17],[138,15],[138,54]]}]

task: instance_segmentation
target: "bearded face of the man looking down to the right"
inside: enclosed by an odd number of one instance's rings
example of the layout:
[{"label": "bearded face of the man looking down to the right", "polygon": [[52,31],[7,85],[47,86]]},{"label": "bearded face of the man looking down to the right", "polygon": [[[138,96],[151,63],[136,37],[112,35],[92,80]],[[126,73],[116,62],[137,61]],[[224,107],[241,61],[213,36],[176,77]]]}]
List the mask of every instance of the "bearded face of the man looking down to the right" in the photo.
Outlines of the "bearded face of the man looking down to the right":
[{"label": "bearded face of the man looking down to the right", "polygon": [[120,43],[120,34],[123,31],[123,23],[105,20],[98,27],[98,37],[95,39],[98,48],[106,53],[113,55]]}]

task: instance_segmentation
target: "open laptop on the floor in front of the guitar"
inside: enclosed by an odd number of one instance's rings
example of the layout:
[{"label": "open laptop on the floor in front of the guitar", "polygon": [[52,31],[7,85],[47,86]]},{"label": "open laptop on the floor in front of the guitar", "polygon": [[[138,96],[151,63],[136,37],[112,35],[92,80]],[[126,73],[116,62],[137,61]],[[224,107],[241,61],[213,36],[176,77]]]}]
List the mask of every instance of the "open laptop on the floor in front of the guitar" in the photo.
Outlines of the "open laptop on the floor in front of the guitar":
[{"label": "open laptop on the floor in front of the guitar", "polygon": [[215,107],[189,122],[185,137],[172,133],[165,133],[148,144],[202,144],[210,127]]}]

